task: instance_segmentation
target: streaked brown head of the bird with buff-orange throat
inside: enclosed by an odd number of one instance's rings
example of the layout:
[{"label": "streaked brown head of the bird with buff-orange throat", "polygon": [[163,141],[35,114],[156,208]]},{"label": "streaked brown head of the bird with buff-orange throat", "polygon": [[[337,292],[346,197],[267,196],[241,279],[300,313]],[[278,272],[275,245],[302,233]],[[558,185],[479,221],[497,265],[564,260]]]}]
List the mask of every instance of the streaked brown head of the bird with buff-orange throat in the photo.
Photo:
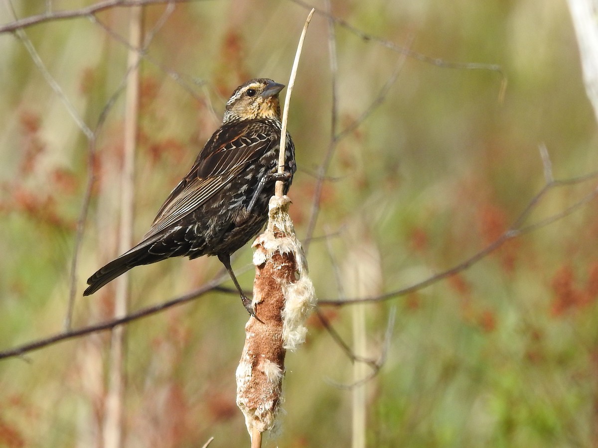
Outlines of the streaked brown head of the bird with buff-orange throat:
[{"label": "streaked brown head of the bird with buff-orange throat", "polygon": [[240,85],[226,103],[222,122],[258,118],[280,121],[278,94],[285,86],[271,79],[251,79]]}]

